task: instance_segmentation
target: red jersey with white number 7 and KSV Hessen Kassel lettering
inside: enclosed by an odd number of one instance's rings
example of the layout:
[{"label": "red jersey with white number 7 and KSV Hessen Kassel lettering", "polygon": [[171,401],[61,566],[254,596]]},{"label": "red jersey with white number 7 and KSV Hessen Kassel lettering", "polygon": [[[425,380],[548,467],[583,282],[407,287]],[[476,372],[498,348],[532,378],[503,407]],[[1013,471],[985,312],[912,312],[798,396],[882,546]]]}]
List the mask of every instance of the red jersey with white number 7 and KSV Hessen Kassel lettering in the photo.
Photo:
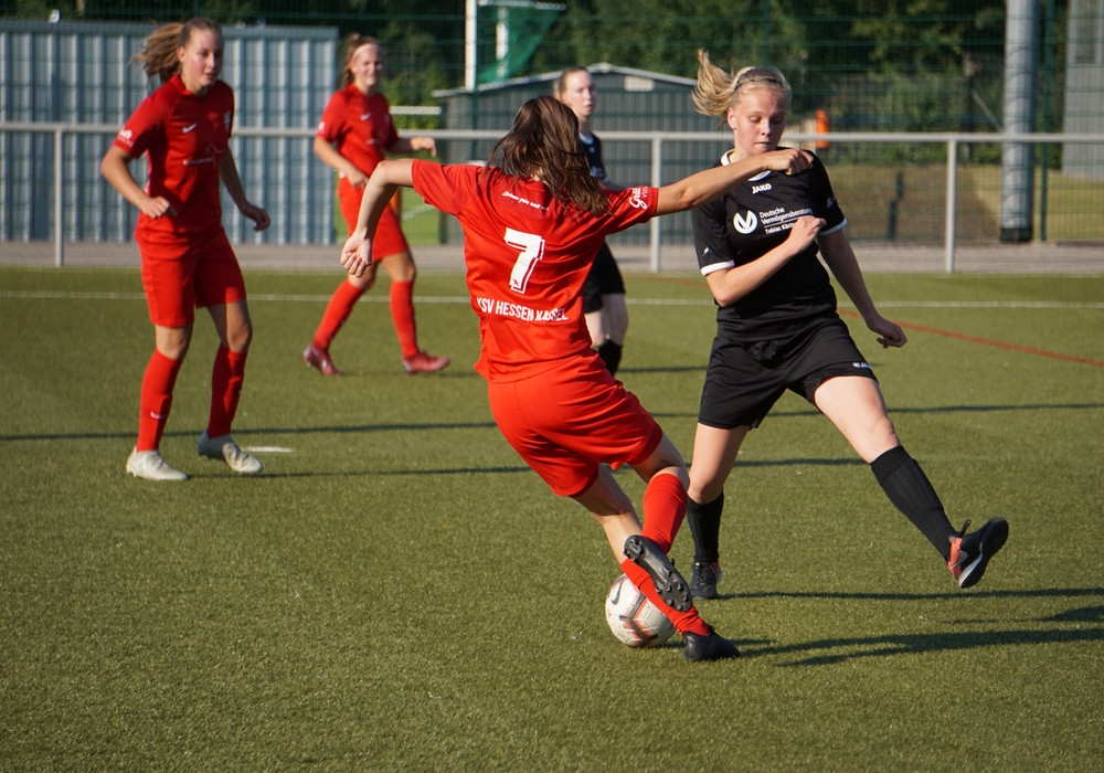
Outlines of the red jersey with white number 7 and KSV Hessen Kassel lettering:
[{"label": "red jersey with white number 7 and KSV Hessen Kassel lettering", "polygon": [[591,351],[583,283],[606,235],[656,213],[655,188],[605,192],[602,215],[565,207],[541,182],[496,167],[414,160],[414,190],[464,230],[471,308],[488,381],[528,378]]}]

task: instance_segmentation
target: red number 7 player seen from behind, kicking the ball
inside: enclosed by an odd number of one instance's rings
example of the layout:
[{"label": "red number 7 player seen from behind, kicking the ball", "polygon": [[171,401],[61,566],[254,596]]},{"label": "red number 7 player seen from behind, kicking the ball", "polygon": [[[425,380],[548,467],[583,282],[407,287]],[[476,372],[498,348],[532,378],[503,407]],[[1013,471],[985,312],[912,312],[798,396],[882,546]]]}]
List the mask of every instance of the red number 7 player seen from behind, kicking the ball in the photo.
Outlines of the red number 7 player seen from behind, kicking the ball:
[{"label": "red number 7 player seen from behind, kicking the ball", "polygon": [[[583,283],[606,235],[697,207],[762,171],[798,172],[808,160],[785,150],[659,189],[604,191],[591,176],[574,114],[541,96],[522,105],[485,168],[420,160],[376,167],[341,254],[354,276],[372,265],[380,216],[400,186],[456,215],[482,341],[476,369],[487,379],[496,423],[555,494],[597,519],[622,570],[675,623],[688,660],[739,650],[698,615],[667,558],[686,513],[686,464],[591,348]],[[604,464],[630,465],[647,481],[643,530]]]}]

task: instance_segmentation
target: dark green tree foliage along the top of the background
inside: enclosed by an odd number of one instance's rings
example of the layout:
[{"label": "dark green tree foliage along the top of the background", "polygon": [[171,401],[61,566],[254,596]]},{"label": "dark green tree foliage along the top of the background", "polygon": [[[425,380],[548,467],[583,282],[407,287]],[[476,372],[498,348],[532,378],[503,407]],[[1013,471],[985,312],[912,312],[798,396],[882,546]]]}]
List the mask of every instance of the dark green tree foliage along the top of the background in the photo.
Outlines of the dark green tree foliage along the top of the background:
[{"label": "dark green tree foliage along the top of the background", "polygon": [[[795,110],[829,109],[835,128],[995,128],[991,115],[999,113],[1002,0],[560,1],[563,12],[520,74],[608,62],[693,77],[697,51],[705,49],[723,67],[779,67],[794,85]],[[202,12],[223,24],[361,32],[384,44],[386,93],[417,104],[464,83],[465,7],[465,0],[0,0],[0,14],[45,18],[56,8],[63,19],[171,21]],[[1049,21],[1055,36],[1064,31],[1061,20]],[[482,52],[492,46],[487,27]]]}]

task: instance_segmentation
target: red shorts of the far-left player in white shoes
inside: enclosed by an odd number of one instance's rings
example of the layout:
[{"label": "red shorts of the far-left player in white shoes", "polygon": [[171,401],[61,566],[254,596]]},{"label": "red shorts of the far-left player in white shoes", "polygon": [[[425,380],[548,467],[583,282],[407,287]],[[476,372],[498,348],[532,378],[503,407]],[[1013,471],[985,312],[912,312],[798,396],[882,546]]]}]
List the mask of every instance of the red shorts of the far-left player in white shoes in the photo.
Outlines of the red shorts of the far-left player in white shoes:
[{"label": "red shorts of the far-left player in white shoes", "polygon": [[188,327],[195,320],[197,308],[245,300],[242,267],[222,229],[206,242],[142,237],[138,247],[153,325]]}]

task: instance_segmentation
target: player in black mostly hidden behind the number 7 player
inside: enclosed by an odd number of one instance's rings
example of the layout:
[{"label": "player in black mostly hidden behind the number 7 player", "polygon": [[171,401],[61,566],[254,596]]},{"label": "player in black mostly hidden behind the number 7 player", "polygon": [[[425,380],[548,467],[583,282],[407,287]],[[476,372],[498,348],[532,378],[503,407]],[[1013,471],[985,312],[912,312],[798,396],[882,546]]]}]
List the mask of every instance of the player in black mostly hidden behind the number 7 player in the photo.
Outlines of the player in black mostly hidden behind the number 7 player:
[{"label": "player in black mostly hidden behind the number 7 player", "polygon": [[[591,165],[591,177],[596,178],[606,190],[625,190],[624,186],[612,182],[606,174],[602,162],[602,140],[591,131],[595,88],[590,71],[586,67],[569,67],[555,82],[554,92],[554,96],[578,119],[578,139]],[[609,373],[615,375],[628,331],[628,308],[625,306],[625,282],[605,242],[583,285],[583,315],[591,331],[591,345],[598,350]]]}]

